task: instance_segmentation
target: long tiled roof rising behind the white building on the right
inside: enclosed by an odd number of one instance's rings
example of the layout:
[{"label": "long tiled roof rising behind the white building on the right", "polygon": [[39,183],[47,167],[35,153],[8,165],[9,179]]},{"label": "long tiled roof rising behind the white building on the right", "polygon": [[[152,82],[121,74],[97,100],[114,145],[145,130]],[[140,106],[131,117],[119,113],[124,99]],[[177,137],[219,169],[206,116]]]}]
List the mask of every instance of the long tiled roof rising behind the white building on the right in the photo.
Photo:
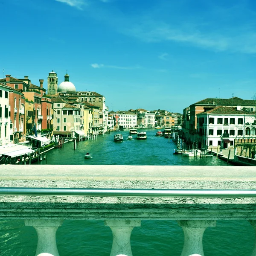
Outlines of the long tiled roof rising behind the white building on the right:
[{"label": "long tiled roof rising behind the white building on the right", "polygon": [[[214,103],[214,104],[213,104]],[[255,106],[253,99],[240,99],[233,97],[230,99],[207,98],[191,105],[215,105],[215,106]]]}]

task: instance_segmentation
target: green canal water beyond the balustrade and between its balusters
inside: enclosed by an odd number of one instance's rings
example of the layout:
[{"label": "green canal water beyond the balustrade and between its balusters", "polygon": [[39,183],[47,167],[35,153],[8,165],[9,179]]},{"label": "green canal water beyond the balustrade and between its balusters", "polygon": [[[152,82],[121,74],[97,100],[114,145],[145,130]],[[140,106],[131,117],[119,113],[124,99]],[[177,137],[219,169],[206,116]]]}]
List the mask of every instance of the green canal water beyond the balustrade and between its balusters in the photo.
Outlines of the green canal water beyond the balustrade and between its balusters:
[{"label": "green canal water beyond the balustrade and between its balusters", "polygon": [[[122,131],[122,143],[113,141],[112,132],[98,136],[97,140],[79,142],[76,151],[72,142],[64,144],[64,148],[47,152],[47,164],[198,165],[202,168],[227,165],[215,157],[174,155],[176,145],[172,140],[156,137],[155,129],[143,131],[147,132],[147,140],[127,140],[128,131]],[[93,158],[85,159],[86,152]],[[40,162],[45,163],[46,160]],[[112,246],[112,233],[104,221],[65,220],[58,228],[56,239],[60,256],[109,256]],[[245,220],[217,221],[216,227],[205,231],[203,244],[205,256],[249,256],[254,230]],[[0,221],[0,256],[34,256],[36,245],[33,227],[25,227],[21,220]],[[134,256],[180,256],[183,231],[177,221],[142,221],[141,227],[134,228],[131,234],[131,247]]]}]

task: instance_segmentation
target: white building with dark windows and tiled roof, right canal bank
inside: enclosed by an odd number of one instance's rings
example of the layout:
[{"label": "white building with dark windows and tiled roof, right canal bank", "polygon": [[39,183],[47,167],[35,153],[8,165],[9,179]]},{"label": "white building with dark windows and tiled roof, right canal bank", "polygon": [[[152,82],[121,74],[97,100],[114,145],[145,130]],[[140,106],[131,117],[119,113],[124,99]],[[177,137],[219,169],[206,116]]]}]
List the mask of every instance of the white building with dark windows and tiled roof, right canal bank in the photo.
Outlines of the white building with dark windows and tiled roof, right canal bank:
[{"label": "white building with dark windows and tiled roof, right canal bank", "polygon": [[256,114],[223,106],[199,113],[197,136],[199,148],[233,147],[235,139],[256,138]]}]

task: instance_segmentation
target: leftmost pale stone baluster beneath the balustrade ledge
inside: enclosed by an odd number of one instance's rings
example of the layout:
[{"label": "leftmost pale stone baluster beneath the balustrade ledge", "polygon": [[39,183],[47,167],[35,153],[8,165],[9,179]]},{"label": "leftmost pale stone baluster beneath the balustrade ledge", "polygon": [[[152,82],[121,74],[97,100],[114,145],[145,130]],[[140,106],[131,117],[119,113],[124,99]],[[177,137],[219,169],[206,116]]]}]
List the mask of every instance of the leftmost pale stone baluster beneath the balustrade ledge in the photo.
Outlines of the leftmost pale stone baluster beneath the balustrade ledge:
[{"label": "leftmost pale stone baluster beneath the balustrade ledge", "polygon": [[25,226],[33,226],[38,234],[36,256],[59,256],[56,231],[62,220],[25,220]]}]

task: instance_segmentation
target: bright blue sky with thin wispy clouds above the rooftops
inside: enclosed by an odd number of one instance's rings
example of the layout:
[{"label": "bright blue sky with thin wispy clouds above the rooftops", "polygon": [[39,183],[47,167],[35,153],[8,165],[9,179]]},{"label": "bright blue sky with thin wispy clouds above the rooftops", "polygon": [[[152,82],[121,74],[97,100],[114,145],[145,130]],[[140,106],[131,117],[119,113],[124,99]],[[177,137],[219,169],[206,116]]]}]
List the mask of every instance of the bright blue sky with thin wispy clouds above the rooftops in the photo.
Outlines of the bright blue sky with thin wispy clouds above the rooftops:
[{"label": "bright blue sky with thin wispy clouds above the rooftops", "polygon": [[39,85],[66,70],[110,110],[182,113],[256,92],[254,0],[2,0],[0,70]]}]

